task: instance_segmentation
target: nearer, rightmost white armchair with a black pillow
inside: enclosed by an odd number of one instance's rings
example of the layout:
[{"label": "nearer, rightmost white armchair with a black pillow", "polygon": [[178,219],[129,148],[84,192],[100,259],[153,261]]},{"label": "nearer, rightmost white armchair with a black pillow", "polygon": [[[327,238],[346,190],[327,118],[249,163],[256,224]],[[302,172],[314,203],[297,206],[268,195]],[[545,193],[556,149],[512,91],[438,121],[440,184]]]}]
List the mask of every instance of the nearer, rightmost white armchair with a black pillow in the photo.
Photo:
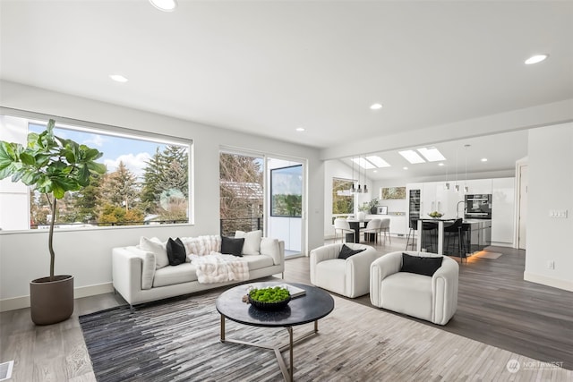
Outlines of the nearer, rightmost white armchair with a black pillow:
[{"label": "nearer, rightmost white armchair with a black pillow", "polygon": [[436,253],[397,251],[383,255],[370,267],[372,305],[446,325],[458,309],[458,262],[444,256],[433,276],[400,272],[402,253],[440,257]]}]

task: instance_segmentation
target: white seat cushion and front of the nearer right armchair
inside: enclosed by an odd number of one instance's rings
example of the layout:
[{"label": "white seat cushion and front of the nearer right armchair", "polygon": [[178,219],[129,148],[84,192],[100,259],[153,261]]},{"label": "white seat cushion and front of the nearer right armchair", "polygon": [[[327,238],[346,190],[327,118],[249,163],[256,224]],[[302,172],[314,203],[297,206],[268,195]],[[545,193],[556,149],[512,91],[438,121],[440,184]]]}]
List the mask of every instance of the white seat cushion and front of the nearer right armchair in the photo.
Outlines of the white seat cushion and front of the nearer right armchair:
[{"label": "white seat cushion and front of the nearer right armchair", "polygon": [[398,272],[381,283],[381,308],[432,320],[432,277]]}]

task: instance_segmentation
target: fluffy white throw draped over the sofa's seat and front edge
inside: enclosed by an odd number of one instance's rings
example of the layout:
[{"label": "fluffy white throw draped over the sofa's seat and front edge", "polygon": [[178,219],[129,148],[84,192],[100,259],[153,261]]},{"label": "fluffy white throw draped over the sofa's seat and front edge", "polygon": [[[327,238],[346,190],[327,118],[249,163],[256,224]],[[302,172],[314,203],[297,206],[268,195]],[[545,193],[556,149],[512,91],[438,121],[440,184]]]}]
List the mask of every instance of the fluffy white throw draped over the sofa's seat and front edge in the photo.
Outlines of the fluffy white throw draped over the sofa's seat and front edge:
[{"label": "fluffy white throw draped over the sofa's seat and front edge", "polygon": [[243,259],[212,251],[209,256],[187,255],[197,267],[197,280],[201,284],[245,281],[249,279],[249,266]]}]

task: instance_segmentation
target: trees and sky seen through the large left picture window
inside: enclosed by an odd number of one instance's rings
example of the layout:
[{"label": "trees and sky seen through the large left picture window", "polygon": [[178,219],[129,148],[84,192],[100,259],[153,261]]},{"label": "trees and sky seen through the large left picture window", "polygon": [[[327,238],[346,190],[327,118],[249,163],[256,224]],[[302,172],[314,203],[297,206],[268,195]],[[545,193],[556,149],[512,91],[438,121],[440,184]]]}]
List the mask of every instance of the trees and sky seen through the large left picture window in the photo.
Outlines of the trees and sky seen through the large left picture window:
[{"label": "trees and sky seen through the large left picture window", "polygon": [[[22,126],[22,135],[24,130],[39,133],[46,127],[37,120],[11,118],[21,119],[16,124]],[[58,227],[189,222],[188,144],[93,132],[82,126],[62,125],[54,130],[56,135],[100,146],[108,168],[106,174],[92,177],[81,192],[64,194],[56,211]],[[29,225],[10,229],[43,228],[48,224],[51,213],[45,196],[33,189],[28,192],[29,207],[22,213],[28,213]]]}]

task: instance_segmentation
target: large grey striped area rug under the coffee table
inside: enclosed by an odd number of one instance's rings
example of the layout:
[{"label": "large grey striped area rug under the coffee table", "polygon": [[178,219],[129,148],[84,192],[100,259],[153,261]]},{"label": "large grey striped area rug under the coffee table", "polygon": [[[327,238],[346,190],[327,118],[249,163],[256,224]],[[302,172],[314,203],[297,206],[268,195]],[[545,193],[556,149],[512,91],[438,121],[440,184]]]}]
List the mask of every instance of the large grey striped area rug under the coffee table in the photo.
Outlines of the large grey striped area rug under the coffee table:
[{"label": "large grey striped area rug under the coffee table", "polygon": [[[80,317],[99,382],[280,381],[274,353],[219,341],[221,290]],[[319,335],[295,346],[299,381],[573,380],[573,371],[334,296]],[[295,327],[307,332],[312,324]],[[284,328],[227,320],[227,338],[286,344]],[[286,354],[286,359],[287,359]]]}]

